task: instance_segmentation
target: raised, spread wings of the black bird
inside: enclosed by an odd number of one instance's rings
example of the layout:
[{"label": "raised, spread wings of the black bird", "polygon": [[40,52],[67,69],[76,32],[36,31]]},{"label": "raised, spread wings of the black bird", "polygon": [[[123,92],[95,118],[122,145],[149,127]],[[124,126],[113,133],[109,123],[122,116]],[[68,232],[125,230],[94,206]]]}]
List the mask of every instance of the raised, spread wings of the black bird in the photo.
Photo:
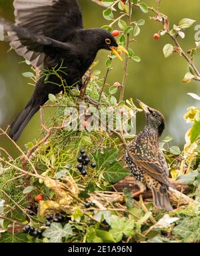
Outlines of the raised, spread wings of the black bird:
[{"label": "raised, spread wings of the black bird", "polygon": [[[15,0],[13,5],[19,29],[7,23],[7,40],[19,55],[39,69],[45,60],[44,45],[52,45],[54,39],[58,46],[56,41],[65,41],[67,33],[83,27],[76,0]],[[1,21],[0,24],[4,25]]]}]

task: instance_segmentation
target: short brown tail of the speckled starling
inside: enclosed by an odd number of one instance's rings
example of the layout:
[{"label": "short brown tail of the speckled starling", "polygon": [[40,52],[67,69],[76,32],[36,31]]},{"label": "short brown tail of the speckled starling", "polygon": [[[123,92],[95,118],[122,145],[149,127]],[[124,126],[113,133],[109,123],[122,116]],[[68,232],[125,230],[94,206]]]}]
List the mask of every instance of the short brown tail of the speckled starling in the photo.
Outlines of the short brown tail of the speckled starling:
[{"label": "short brown tail of the speckled starling", "polygon": [[156,187],[151,187],[153,193],[154,204],[167,211],[173,211],[173,207],[169,201],[168,188],[165,185],[161,185],[159,190]]}]

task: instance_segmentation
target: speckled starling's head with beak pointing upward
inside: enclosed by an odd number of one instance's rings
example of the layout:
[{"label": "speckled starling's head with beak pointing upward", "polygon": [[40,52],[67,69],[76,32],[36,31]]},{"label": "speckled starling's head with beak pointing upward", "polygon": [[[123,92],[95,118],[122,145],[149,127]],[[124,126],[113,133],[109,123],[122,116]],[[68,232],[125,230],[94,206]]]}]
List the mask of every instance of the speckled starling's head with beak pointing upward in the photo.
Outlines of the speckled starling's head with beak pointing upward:
[{"label": "speckled starling's head with beak pointing upward", "polygon": [[145,103],[139,101],[138,99],[137,103],[139,103],[143,111],[145,111],[147,127],[155,130],[155,132],[161,136],[163,130],[165,129],[165,118],[163,115],[156,109],[148,107]]}]

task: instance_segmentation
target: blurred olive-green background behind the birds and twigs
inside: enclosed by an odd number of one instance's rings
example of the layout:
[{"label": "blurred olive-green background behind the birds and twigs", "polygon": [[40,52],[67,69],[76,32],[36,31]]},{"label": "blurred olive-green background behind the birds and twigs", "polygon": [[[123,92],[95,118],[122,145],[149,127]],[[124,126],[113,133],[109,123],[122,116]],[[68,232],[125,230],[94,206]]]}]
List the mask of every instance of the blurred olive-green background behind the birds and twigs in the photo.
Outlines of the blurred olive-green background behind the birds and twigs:
[{"label": "blurred olive-green background behind the birds and twigs", "polygon": [[[154,5],[156,0],[145,1],[148,5]],[[0,0],[0,15],[6,19],[13,20],[13,1]],[[79,0],[83,11],[84,25],[89,27],[101,27],[107,21],[103,19],[103,8],[90,0]],[[161,12],[165,13],[171,22],[179,23],[182,18],[191,18],[200,24],[200,2],[199,0],[182,1],[182,0],[161,0]],[[153,39],[154,33],[161,29],[161,23],[149,21],[149,16],[153,13],[141,13],[139,9],[134,9],[133,19],[145,19],[146,24],[141,29],[141,34],[137,37],[137,42],[133,43],[135,55],[141,57],[141,63],[129,62],[129,76],[125,98],[133,97],[141,99],[151,107],[159,109],[166,118],[167,127],[165,135],[171,134],[175,137],[175,144],[183,146],[185,131],[189,128],[183,120],[183,114],[186,113],[187,107],[198,105],[199,103],[187,95],[189,92],[199,93],[200,84],[192,82],[190,84],[182,83],[182,79],[188,71],[186,61],[173,55],[165,59],[163,57],[163,46],[171,43],[168,37],[161,37],[159,40]],[[181,39],[183,49],[187,50],[195,46],[194,27],[187,29],[186,38]],[[15,116],[26,105],[29,97],[33,92],[33,86],[28,85],[29,79],[26,79],[21,73],[29,71],[25,64],[19,64],[22,57],[19,57],[15,51],[9,50],[9,44],[0,42],[0,127],[6,129]],[[105,74],[105,60],[107,51],[101,51],[97,55],[99,66],[97,69]],[[200,69],[200,55],[195,57],[197,66]],[[114,70],[109,75],[109,82],[121,82],[123,75],[123,63],[115,61]],[[48,113],[46,114],[48,115]],[[137,117],[137,131],[144,125],[143,114]],[[40,133],[39,114],[35,115],[31,122],[21,135],[17,143],[24,147],[25,143],[37,138]],[[0,147],[4,147],[13,156],[18,152],[9,142],[8,139],[0,137]]]}]

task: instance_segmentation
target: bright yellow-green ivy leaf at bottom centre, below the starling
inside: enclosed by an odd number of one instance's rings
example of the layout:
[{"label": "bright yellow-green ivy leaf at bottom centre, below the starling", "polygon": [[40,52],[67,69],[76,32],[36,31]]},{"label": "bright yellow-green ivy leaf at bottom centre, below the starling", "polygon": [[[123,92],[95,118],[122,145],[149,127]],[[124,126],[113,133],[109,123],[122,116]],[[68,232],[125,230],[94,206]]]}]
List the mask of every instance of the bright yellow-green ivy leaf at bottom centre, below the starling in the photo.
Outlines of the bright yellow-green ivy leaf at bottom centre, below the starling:
[{"label": "bright yellow-green ivy leaf at bottom centre, below the starling", "polygon": [[130,237],[134,235],[135,230],[135,221],[133,219],[125,219],[125,217],[113,216],[113,220],[111,221],[111,229],[109,233],[111,233],[116,242],[121,241],[123,235]]}]

